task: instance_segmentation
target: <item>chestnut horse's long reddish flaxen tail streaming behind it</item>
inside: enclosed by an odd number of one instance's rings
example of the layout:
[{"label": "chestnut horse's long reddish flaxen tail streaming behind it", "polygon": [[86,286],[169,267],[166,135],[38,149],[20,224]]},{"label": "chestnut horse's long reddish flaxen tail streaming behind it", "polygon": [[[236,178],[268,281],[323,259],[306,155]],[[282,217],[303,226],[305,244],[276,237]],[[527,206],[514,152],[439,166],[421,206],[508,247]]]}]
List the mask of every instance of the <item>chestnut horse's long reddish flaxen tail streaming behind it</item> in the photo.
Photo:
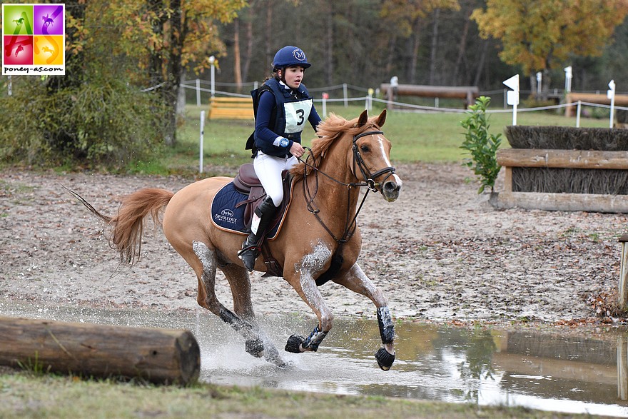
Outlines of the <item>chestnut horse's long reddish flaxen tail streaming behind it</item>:
[{"label": "chestnut horse's long reddish flaxen tail streaming behind it", "polygon": [[109,238],[111,248],[116,249],[120,253],[121,261],[131,265],[140,260],[144,218],[151,214],[156,225],[161,225],[159,214],[174,196],[174,193],[165,189],[144,188],[131,193],[131,195],[124,196],[122,204],[118,209],[118,214],[109,217],[93,208],[91,203],[85,201],[78,193],[68,188],[66,190],[91,213],[108,224],[108,226],[111,226],[112,231]]}]

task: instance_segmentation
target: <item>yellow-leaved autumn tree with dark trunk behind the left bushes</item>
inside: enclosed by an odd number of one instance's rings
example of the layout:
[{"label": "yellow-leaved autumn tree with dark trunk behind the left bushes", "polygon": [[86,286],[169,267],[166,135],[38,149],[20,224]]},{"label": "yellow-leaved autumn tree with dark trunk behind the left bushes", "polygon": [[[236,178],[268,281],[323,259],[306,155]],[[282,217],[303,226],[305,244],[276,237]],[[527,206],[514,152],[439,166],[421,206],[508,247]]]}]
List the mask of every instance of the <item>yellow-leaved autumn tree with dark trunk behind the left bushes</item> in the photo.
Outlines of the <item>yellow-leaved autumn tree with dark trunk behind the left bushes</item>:
[{"label": "yellow-leaved autumn tree with dark trunk behind the left bushes", "polygon": [[136,59],[136,79],[148,81],[168,108],[165,141],[176,143],[176,105],[186,70],[209,66],[207,58],[224,54],[216,24],[236,18],[244,0],[113,0],[111,21],[123,22],[117,46]]}]

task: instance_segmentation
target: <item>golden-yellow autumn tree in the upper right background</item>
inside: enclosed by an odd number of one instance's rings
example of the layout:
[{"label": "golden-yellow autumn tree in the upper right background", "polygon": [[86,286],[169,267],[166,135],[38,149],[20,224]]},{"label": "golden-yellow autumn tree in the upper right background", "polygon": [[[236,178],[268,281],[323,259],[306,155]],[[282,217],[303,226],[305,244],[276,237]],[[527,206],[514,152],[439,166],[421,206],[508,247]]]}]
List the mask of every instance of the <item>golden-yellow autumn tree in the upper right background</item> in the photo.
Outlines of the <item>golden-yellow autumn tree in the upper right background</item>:
[{"label": "golden-yellow autumn tree in the upper right background", "polygon": [[500,39],[500,59],[521,66],[535,91],[538,71],[548,89],[550,69],[569,57],[602,55],[627,14],[626,0],[487,0],[486,9],[476,9],[471,19],[482,38]]}]

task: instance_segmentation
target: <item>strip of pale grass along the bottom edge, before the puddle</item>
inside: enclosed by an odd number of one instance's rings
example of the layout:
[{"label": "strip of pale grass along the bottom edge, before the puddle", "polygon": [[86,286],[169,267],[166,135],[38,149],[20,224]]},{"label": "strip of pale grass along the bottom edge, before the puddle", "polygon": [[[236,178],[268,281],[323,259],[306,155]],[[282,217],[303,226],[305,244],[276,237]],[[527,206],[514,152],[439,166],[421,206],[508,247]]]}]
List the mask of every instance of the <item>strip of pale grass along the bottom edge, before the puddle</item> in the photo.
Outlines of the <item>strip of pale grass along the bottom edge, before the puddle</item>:
[{"label": "strip of pale grass along the bottom edge, before the puddle", "polygon": [[0,418],[585,418],[527,408],[196,384],[0,373]]}]

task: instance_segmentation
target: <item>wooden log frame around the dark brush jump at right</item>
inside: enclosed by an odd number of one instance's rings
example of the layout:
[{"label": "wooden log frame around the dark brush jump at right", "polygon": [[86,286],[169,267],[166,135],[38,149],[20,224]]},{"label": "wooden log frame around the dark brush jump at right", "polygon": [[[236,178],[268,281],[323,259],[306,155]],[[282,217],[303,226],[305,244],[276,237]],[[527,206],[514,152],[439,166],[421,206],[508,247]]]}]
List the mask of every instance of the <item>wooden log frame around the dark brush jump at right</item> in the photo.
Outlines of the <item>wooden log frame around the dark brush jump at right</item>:
[{"label": "wooden log frame around the dark brush jump at right", "polygon": [[628,213],[624,195],[512,191],[513,167],[628,170],[628,151],[508,148],[497,151],[497,163],[505,170],[504,191],[491,201],[497,208]]}]

